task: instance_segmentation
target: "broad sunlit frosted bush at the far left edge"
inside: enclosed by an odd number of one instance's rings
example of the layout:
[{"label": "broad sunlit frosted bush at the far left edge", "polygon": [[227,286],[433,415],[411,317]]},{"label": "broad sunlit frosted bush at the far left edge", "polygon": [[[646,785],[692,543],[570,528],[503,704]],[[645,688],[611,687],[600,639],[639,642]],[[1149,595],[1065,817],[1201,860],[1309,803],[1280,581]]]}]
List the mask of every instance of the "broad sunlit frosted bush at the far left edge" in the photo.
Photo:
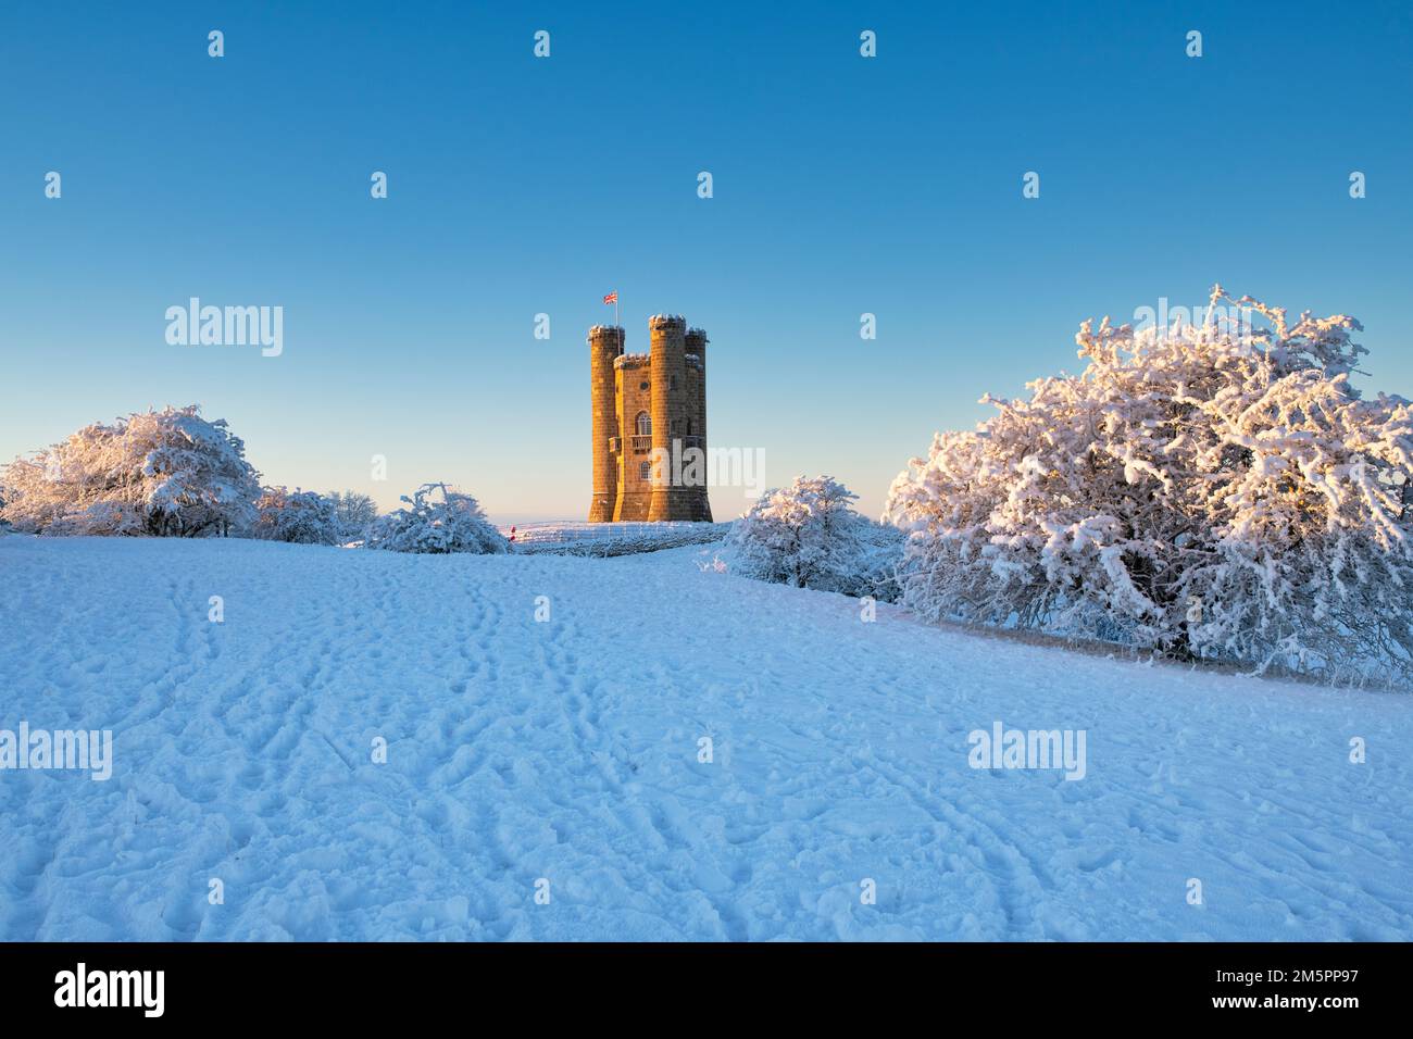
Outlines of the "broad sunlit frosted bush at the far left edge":
[{"label": "broad sunlit frosted bush at the far left edge", "polygon": [[44,534],[226,534],[260,495],[244,444],[195,404],[88,425],[10,462],[0,483],[4,519]]}]

